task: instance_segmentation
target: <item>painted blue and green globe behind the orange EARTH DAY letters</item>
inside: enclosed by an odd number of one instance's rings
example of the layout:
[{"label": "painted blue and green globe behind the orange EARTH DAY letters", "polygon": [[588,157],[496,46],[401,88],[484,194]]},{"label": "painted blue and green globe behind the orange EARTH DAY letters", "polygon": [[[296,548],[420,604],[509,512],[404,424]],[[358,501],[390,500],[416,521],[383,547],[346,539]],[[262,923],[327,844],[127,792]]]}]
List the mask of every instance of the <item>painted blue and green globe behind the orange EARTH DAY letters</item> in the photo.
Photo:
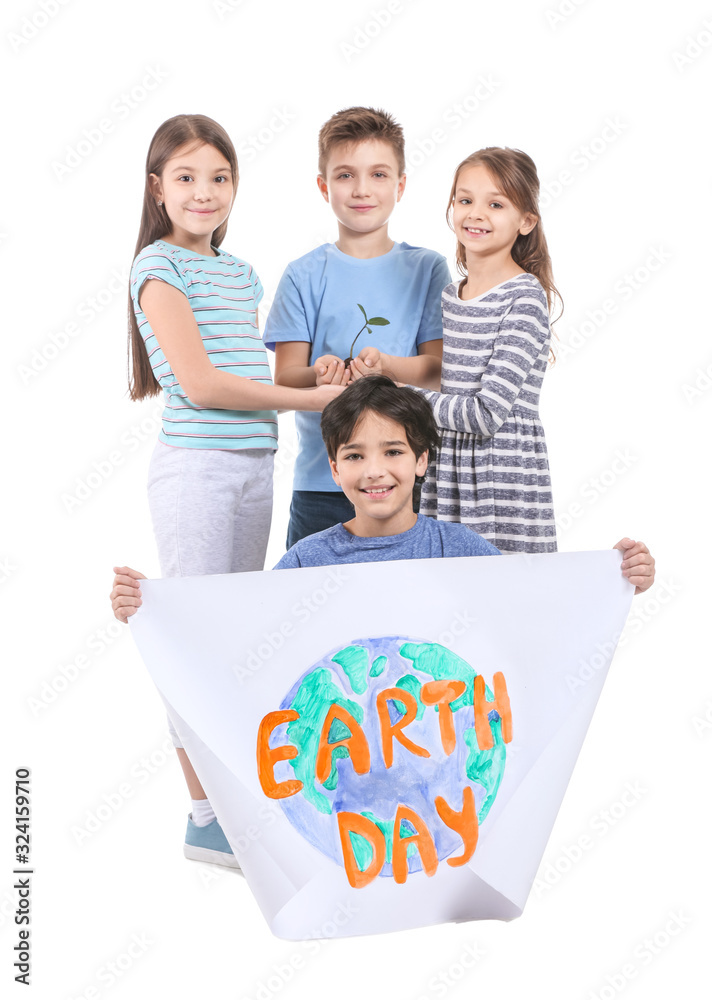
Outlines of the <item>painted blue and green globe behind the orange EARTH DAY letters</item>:
[{"label": "painted blue and green globe behind the orange EARTH DAY letters", "polygon": [[[447,827],[435,809],[435,797],[441,795],[457,811],[462,809],[463,789],[470,785],[475,795],[478,822],[482,823],[497,795],[506,757],[501,734],[501,720],[496,711],[489,714],[494,746],[480,750],[474,729],[473,685],[475,670],[444,646],[422,639],[381,636],[357,639],[331,650],[309,668],[283,699],[280,708],[294,709],[300,718],[279,727],[284,734],[275,739],[293,744],[298,756],[281,761],[275,769],[279,781],[298,778],[303,788],[280,804],[289,822],[310,844],[343,864],[336,815],[341,811],[360,813],[374,822],[386,840],[386,863],[380,875],[392,877],[393,824],[399,804],[413,809],[428,825],[435,841],[438,861],[462,850],[462,839]],[[436,706],[425,706],[420,699],[421,686],[432,680],[461,680],[463,694],[452,703],[455,724],[455,749],[448,756],[442,745]],[[386,768],[381,748],[381,732],[376,696],[384,688],[397,687],[416,700],[418,713],[404,735],[425,747],[430,757],[419,757],[399,742],[393,742],[393,765]],[[492,691],[486,688],[488,701]],[[345,708],[363,729],[370,749],[371,771],[356,774],[346,747],[333,751],[331,774],[322,785],[315,777],[319,736],[332,704]],[[405,706],[388,703],[391,722],[405,714]],[[328,741],[348,738],[349,730],[335,719]],[[415,833],[407,821],[400,835]],[[351,843],[359,867],[364,870],[372,857],[370,843],[351,833]],[[408,847],[408,872],[421,871],[420,854],[414,844]]]}]

